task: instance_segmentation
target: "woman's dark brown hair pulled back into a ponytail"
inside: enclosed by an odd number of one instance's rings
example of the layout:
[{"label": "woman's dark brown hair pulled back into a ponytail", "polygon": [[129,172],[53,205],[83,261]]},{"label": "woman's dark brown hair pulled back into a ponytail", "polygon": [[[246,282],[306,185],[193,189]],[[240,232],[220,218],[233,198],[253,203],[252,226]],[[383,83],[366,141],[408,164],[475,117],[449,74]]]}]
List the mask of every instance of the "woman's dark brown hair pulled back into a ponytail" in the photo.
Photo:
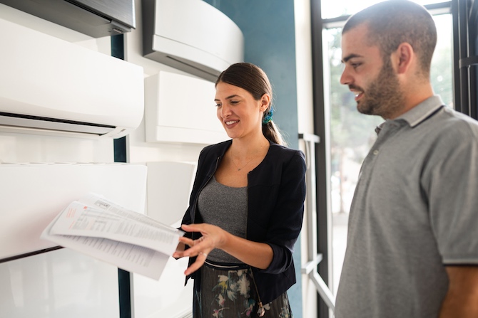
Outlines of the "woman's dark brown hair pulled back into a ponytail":
[{"label": "woman's dark brown hair pulled back into a ponytail", "polygon": [[263,134],[271,142],[285,145],[278,127],[273,122],[273,89],[268,75],[262,69],[251,63],[235,63],[220,73],[215,85],[217,86],[218,83],[227,83],[243,88],[250,92],[255,100],[260,100],[264,94],[269,94],[270,103],[263,116]]}]

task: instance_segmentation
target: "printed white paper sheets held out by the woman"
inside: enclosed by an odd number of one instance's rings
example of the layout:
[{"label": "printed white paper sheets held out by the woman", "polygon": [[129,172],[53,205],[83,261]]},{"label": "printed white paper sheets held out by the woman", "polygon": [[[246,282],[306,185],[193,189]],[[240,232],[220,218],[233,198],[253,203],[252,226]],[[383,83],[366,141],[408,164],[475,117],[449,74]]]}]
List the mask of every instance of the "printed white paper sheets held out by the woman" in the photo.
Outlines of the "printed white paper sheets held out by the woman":
[{"label": "printed white paper sheets held out by the woman", "polygon": [[184,232],[97,194],[73,201],[41,238],[159,280]]}]

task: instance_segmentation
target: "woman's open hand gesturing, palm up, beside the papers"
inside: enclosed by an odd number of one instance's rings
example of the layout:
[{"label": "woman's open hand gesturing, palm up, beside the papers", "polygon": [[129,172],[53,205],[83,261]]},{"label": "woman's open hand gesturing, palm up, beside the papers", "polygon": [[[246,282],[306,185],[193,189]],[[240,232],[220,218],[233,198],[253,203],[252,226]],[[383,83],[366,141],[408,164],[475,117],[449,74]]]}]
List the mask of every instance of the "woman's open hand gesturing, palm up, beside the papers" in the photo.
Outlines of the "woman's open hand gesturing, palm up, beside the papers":
[{"label": "woman's open hand gesturing, palm up, beside the papers", "polygon": [[184,272],[185,275],[190,275],[203,266],[205,259],[208,257],[211,250],[214,248],[221,248],[221,246],[225,244],[228,233],[218,226],[213,226],[207,223],[190,225],[183,224],[181,228],[186,232],[200,232],[201,235],[203,235],[198,238],[198,240],[191,240],[190,238],[185,237],[179,238],[179,245],[184,243],[185,245],[190,246],[190,248],[182,251],[176,250],[176,252],[173,253],[173,258],[197,256],[195,262]]}]

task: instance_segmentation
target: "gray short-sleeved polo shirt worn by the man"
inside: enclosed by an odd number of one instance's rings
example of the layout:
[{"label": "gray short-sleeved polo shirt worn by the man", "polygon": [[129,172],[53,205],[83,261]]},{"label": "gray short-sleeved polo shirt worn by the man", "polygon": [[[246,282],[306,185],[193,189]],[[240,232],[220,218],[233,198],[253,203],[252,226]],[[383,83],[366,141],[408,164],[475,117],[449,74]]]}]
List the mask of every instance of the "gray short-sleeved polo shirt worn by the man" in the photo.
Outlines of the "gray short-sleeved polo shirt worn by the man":
[{"label": "gray short-sleeved polo shirt worn by the man", "polygon": [[430,97],[377,129],[350,208],[335,318],[436,318],[444,265],[478,265],[478,123]]}]

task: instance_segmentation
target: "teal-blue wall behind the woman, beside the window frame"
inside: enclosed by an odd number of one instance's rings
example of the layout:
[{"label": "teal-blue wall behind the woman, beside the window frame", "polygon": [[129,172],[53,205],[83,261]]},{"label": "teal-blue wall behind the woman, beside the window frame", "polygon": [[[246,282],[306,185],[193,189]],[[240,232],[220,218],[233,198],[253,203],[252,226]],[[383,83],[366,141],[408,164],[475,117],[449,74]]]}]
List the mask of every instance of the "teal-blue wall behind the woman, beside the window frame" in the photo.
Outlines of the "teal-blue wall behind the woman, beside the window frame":
[{"label": "teal-blue wall behind the woman, beside the window frame", "polygon": [[[274,91],[274,122],[289,147],[298,149],[297,87],[295,73],[294,1],[204,0],[231,18],[243,31],[244,61],[268,74]],[[300,240],[294,253],[297,284],[288,295],[295,318],[302,317]]]}]

